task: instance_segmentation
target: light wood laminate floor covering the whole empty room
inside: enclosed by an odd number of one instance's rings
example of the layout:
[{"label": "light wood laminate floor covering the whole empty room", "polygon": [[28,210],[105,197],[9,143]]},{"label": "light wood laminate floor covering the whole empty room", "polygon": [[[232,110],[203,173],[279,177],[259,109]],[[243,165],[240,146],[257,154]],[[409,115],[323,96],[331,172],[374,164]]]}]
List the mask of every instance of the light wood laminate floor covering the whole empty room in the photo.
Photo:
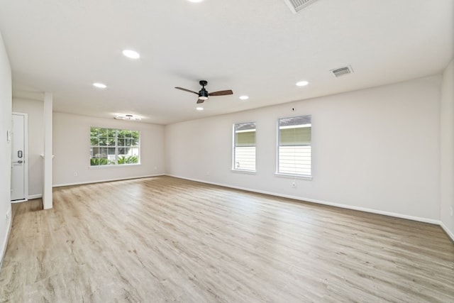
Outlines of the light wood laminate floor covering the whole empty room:
[{"label": "light wood laminate floor covering the whole empty room", "polygon": [[1,302],[454,302],[439,226],[172,177],[13,204]]}]

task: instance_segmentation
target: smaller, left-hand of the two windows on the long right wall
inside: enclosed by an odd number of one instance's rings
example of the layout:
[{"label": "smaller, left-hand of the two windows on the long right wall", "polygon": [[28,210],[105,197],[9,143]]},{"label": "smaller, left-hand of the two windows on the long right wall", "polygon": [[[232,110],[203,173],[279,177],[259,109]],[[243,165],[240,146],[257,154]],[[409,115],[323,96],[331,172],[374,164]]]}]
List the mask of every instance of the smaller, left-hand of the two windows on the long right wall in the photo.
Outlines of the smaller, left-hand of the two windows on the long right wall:
[{"label": "smaller, left-hand of the two windows on the long right wall", "polygon": [[255,171],[255,122],[233,125],[233,170]]}]

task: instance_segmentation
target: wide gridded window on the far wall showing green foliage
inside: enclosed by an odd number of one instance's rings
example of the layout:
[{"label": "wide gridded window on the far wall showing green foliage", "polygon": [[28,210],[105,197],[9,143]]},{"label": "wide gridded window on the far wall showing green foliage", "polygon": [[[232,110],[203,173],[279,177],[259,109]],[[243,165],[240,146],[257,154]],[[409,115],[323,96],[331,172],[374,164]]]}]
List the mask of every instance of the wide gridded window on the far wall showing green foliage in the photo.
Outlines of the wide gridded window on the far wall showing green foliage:
[{"label": "wide gridded window on the far wall showing green foliage", "polygon": [[140,132],[90,128],[90,165],[139,164]]}]

